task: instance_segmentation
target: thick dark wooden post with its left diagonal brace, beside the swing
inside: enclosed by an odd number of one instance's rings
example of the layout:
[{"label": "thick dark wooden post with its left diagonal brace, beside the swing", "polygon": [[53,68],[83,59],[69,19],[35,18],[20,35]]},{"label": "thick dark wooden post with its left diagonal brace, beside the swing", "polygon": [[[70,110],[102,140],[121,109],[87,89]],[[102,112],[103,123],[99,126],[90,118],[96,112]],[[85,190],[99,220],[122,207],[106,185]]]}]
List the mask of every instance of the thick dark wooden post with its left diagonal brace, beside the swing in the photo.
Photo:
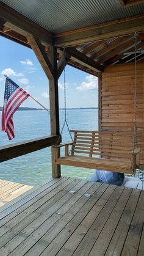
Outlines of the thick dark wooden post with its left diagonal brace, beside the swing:
[{"label": "thick dark wooden post with its left diagonal brace, beside the swing", "polygon": [[[32,49],[37,56],[41,67],[49,79],[49,103],[51,118],[51,135],[59,135],[59,93],[57,79],[57,49],[49,45],[48,55],[46,54],[41,42],[32,34],[27,34]],[[61,139],[61,137],[59,138]],[[60,140],[59,140],[60,141]],[[52,177],[60,177],[60,166],[55,163],[56,148],[52,148]]]}]

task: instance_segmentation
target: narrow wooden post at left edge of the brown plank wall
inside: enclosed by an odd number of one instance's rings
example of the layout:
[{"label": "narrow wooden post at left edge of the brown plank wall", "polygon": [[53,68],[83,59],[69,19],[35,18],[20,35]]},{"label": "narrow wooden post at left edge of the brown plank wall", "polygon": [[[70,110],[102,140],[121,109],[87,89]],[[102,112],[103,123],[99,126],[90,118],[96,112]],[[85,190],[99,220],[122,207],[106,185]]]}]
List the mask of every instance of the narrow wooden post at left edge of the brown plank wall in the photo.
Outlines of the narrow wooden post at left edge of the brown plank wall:
[{"label": "narrow wooden post at left edge of the brown plank wall", "polygon": [[98,75],[98,130],[101,131],[102,109],[101,109],[102,73]]}]

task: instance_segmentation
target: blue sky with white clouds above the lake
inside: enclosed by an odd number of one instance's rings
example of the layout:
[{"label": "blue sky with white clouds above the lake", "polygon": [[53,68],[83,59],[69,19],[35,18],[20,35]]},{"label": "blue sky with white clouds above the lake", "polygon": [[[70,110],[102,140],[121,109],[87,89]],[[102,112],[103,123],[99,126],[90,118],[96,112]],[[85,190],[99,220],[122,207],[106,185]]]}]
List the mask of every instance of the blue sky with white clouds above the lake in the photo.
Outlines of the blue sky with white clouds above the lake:
[{"label": "blue sky with white clouds above the lake", "polygon": [[[0,36],[0,106],[4,98],[6,73],[20,87],[27,90],[41,104],[49,108],[48,78],[34,52],[25,46]],[[98,107],[98,79],[76,68],[66,67],[67,108]],[[21,106],[39,108],[28,98]],[[59,106],[64,107],[63,73],[59,78]]]}]

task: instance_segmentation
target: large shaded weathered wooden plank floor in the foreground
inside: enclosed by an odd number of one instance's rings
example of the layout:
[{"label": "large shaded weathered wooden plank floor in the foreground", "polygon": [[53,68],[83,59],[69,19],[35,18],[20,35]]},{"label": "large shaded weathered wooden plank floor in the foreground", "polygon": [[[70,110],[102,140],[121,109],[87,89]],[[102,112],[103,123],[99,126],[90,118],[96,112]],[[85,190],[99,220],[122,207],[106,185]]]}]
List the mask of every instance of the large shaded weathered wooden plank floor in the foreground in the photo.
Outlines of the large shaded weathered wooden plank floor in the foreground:
[{"label": "large shaded weathered wooden plank floor in the foreground", "polygon": [[62,177],[1,207],[0,255],[144,255],[144,192]]}]

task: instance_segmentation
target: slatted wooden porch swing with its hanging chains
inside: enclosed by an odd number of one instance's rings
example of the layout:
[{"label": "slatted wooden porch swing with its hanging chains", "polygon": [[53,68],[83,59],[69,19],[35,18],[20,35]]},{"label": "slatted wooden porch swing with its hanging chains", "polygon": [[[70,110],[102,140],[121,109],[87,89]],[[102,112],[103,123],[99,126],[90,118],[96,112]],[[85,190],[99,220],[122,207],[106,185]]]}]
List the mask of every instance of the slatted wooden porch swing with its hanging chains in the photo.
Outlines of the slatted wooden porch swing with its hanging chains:
[{"label": "slatted wooden porch swing with its hanging chains", "polygon": [[[64,49],[65,51],[65,49]],[[137,34],[135,33],[135,100],[134,100],[134,135],[117,131],[79,131],[69,130],[66,117],[65,124],[68,131],[74,133],[72,143],[59,144],[56,148],[56,164],[84,167],[90,169],[109,170],[125,174],[135,174],[140,164],[140,148],[137,148]],[[65,59],[65,58],[64,58]],[[64,69],[65,87],[65,69]],[[62,131],[63,131],[62,127]],[[62,134],[62,131],[60,134]],[[68,145],[71,145],[69,154]],[[65,147],[65,156],[60,157],[60,148]]]}]

